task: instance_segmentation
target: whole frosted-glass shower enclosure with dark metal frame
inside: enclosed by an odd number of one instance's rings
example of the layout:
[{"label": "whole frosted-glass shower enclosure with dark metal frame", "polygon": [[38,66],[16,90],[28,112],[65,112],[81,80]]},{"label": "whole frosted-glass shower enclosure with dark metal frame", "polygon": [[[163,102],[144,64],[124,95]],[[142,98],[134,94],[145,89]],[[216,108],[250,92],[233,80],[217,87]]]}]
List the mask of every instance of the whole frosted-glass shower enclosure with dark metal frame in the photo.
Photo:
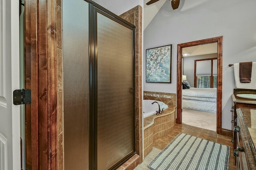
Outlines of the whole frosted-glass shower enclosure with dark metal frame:
[{"label": "whole frosted-glass shower enclosure with dark metal frame", "polygon": [[63,0],[64,168],[116,169],[135,154],[134,25]]}]

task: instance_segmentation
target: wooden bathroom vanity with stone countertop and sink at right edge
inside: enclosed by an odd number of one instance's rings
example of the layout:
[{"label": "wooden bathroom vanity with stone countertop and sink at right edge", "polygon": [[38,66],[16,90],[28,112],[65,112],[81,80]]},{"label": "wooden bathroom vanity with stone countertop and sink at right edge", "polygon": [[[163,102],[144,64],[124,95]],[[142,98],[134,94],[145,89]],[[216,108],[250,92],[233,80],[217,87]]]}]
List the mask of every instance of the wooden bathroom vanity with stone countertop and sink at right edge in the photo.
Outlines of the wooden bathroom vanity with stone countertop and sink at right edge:
[{"label": "wooden bathroom vanity with stone countertop and sink at right edge", "polygon": [[240,91],[232,94],[232,132],[233,148],[237,170],[256,170],[256,99],[246,98],[256,94],[255,90]]}]

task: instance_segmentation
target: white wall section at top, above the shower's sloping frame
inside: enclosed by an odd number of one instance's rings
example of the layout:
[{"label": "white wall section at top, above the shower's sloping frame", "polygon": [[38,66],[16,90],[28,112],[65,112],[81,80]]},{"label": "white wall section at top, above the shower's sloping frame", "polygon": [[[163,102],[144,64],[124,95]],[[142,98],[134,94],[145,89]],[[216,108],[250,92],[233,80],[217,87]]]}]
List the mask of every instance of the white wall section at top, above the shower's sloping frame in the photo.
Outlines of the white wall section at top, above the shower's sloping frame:
[{"label": "white wall section at top, above the shower's sloping frame", "polygon": [[143,0],[93,0],[93,1],[118,16],[134,8],[135,6],[140,5],[143,7]]}]

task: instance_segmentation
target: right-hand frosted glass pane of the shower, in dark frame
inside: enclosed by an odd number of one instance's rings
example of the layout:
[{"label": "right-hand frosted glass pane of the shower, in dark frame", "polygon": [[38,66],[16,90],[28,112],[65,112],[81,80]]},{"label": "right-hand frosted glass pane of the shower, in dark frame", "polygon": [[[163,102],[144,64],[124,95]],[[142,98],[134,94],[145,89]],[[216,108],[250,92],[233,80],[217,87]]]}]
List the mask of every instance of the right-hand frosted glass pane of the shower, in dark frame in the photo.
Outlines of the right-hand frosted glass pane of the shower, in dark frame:
[{"label": "right-hand frosted glass pane of the shower, in dark frame", "polygon": [[96,13],[97,169],[112,169],[134,152],[133,31]]}]

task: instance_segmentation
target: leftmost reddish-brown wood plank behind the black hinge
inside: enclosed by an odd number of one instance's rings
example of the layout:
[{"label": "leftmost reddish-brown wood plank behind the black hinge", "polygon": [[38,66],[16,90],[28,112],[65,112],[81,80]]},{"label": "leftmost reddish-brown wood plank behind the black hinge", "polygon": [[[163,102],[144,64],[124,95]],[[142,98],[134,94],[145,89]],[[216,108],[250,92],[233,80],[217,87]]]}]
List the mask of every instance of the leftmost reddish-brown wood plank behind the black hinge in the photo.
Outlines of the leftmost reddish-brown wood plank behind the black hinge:
[{"label": "leftmost reddish-brown wood plank behind the black hinge", "polygon": [[[25,88],[31,89],[30,105],[26,105],[26,168],[38,169],[38,101],[37,101],[37,59],[36,59],[36,1],[25,2]],[[33,64],[33,67],[31,65]],[[31,113],[34,116],[31,117]],[[32,127],[34,127],[32,129]],[[33,143],[32,143],[33,141]]]}]

